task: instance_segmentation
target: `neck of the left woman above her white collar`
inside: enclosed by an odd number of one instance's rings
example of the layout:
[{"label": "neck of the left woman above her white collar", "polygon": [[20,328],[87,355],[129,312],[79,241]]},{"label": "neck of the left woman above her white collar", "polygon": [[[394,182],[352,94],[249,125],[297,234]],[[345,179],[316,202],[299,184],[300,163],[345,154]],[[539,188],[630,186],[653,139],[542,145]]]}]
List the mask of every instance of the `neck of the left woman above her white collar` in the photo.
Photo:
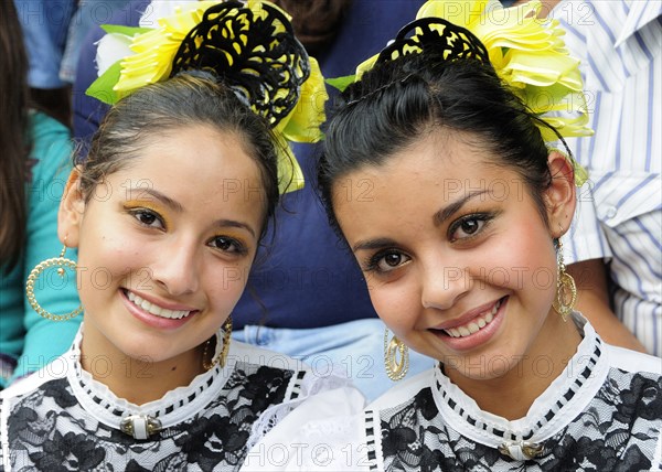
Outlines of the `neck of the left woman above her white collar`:
[{"label": "neck of the left woman above her white collar", "polygon": [[168,391],[191,384],[196,375],[205,372],[202,345],[167,361],[150,362],[134,358],[114,346],[107,346],[107,340],[95,337],[93,330],[83,333],[83,369],[117,397],[135,405],[158,400]]}]

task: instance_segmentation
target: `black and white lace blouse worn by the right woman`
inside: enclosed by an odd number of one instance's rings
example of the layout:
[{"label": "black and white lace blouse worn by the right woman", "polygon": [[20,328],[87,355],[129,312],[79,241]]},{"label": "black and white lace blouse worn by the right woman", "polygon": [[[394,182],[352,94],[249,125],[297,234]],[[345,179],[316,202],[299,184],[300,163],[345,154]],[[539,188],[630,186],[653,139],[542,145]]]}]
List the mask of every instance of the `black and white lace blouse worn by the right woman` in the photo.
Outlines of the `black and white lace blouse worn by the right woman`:
[{"label": "black and white lace blouse worn by the right woman", "polygon": [[482,411],[438,367],[376,400],[364,412],[367,469],[660,468],[662,360],[606,345],[575,321],[584,332],[577,353],[524,418]]}]

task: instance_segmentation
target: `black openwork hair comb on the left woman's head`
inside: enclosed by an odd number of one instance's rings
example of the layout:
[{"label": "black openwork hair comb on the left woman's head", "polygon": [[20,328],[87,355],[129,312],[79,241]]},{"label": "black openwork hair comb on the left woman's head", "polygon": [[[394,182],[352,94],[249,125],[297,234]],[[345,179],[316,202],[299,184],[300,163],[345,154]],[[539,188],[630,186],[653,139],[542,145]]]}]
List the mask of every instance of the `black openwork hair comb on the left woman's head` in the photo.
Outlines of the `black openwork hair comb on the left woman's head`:
[{"label": "black openwork hair comb on the left woman's head", "polygon": [[190,69],[212,72],[275,127],[295,108],[310,66],[282,12],[267,3],[263,11],[266,17],[238,1],[210,7],[182,41],[170,76]]}]

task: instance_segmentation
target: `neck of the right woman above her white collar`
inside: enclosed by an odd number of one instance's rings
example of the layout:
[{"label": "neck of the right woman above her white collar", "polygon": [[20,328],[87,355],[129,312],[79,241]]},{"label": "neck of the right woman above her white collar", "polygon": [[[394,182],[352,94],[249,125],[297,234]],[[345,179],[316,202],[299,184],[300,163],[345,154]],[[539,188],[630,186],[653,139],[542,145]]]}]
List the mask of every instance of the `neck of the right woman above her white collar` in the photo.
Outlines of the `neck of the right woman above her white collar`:
[{"label": "neck of the right woman above her white collar", "polygon": [[580,342],[575,323],[564,322],[553,312],[530,350],[504,375],[474,379],[450,368],[446,375],[482,410],[515,420],[525,417],[535,399],[563,373]]}]

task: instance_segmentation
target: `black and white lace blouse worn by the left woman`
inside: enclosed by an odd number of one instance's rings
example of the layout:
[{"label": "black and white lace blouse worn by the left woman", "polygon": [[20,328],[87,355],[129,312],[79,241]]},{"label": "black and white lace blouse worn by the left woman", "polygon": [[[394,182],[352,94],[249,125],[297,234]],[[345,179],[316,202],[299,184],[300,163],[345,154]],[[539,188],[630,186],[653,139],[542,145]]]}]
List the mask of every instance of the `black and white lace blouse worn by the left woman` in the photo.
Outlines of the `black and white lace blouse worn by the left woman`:
[{"label": "black and white lace blouse worn by the left woman", "polygon": [[224,367],[137,406],[81,368],[79,336],[0,394],[0,471],[238,470],[248,448],[298,403],[342,384],[233,341]]}]

